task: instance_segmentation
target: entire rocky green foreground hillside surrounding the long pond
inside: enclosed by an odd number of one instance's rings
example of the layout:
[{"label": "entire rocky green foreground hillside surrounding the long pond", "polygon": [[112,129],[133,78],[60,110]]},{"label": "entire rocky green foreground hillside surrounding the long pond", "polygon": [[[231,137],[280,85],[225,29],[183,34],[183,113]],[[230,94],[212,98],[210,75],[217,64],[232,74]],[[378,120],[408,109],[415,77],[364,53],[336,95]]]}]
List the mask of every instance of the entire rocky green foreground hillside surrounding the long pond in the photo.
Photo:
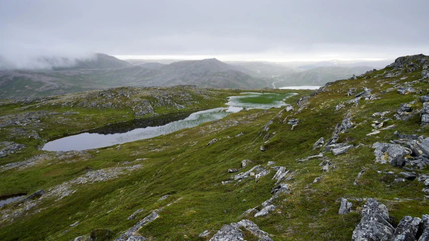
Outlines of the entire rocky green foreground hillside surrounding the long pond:
[{"label": "entire rocky green foreground hillside surrounding the long pond", "polygon": [[0,208],[0,239],[428,240],[428,80],[429,56],[400,57],[298,91],[286,107],[80,152],[39,147],[135,118],[140,107],[142,117],[213,108],[239,91],[2,101],[0,195],[23,197]]}]

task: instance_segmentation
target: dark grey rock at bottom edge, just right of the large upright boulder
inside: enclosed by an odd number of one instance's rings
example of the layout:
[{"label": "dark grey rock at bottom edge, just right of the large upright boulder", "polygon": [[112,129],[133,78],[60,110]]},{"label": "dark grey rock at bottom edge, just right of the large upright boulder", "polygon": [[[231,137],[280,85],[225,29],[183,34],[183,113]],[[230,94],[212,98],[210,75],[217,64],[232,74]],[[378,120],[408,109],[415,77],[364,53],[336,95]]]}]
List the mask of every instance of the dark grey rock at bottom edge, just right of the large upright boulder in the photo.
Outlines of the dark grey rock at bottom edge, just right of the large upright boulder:
[{"label": "dark grey rock at bottom edge, just right of the large upright boulder", "polygon": [[392,241],[417,241],[416,236],[420,222],[421,219],[418,217],[403,217],[393,233]]}]

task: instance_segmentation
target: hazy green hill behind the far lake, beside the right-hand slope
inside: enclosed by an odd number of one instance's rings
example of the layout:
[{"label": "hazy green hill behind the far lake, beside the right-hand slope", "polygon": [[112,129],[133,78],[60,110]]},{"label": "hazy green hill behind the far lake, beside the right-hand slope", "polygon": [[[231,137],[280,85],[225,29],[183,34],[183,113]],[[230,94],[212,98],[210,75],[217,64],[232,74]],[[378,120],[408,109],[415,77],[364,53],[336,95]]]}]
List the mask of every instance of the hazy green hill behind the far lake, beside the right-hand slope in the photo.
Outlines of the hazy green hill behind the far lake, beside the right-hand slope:
[{"label": "hazy green hill behind the far lake, beside the right-hand slope", "polygon": [[327,82],[338,79],[347,79],[355,75],[360,75],[368,70],[374,69],[368,66],[359,67],[318,67],[293,74],[283,74],[277,76],[276,87],[316,85],[322,86]]}]

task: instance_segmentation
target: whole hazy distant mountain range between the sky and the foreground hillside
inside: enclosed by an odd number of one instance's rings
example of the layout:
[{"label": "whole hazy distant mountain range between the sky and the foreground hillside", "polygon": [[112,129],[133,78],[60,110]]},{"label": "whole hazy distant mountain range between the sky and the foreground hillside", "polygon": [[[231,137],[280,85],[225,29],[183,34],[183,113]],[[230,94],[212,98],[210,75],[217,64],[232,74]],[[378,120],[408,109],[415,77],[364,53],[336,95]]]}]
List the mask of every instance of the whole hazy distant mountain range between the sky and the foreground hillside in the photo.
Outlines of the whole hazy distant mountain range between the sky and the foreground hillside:
[{"label": "whole hazy distant mountain range between the sky and the foreground hillside", "polygon": [[[118,86],[197,85],[214,88],[263,88],[294,85],[324,85],[337,79],[360,75],[373,67],[316,67],[347,65],[359,62],[311,62],[301,68],[285,63],[228,62],[217,59],[128,60],[106,54],[95,54],[80,60],[43,59],[53,70],[0,71],[0,98],[42,96],[81,92]],[[58,65],[58,62],[65,63]],[[163,62],[163,63],[160,63]],[[2,62],[0,62],[1,64]],[[166,64],[168,63],[168,64]],[[310,63],[310,62],[306,62]],[[301,62],[302,64],[302,62]],[[298,66],[298,62],[294,62]],[[1,67],[1,66],[0,66]],[[305,70],[308,68],[308,70]]]}]

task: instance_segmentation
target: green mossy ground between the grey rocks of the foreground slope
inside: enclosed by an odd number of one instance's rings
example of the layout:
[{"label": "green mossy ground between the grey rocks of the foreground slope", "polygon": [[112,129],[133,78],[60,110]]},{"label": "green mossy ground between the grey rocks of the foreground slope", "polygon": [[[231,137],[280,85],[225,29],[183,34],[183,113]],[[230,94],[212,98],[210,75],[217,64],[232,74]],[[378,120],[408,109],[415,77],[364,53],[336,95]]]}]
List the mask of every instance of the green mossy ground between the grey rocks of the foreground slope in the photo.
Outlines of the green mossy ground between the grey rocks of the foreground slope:
[{"label": "green mossy ground between the grey rocks of the foreground slope", "polygon": [[[372,76],[382,74],[384,70],[371,73]],[[250,109],[231,114],[219,121],[206,123],[195,128],[184,129],[175,133],[152,139],[135,141],[117,146],[90,151],[93,158],[76,160],[70,163],[46,163],[21,171],[8,170],[0,175],[0,194],[16,192],[33,192],[41,188],[49,188],[83,175],[85,168],[94,170],[115,167],[125,161],[142,164],[143,168],[125,174],[120,178],[107,182],[84,184],[79,189],[61,200],[46,199],[34,210],[45,208],[40,212],[17,218],[13,222],[3,223],[0,227],[0,237],[3,240],[70,240],[76,236],[89,234],[97,228],[109,228],[118,236],[133,226],[139,219],[147,216],[153,209],[164,207],[159,212],[160,217],[143,226],[138,232],[149,240],[199,240],[198,234],[209,230],[214,234],[223,224],[240,220],[240,215],[247,210],[260,205],[269,199],[274,180],[274,171],[261,178],[243,180],[237,184],[222,185],[231,176],[228,168],[240,168],[244,159],[252,161],[244,170],[254,165],[266,165],[275,161],[278,166],[291,170],[291,194],[282,194],[276,199],[276,211],[264,217],[249,217],[258,226],[272,234],[274,240],[350,240],[355,224],[360,221],[360,206],[364,202],[352,198],[373,197],[385,204],[389,214],[395,220],[404,215],[421,216],[428,213],[428,201],[421,192],[423,184],[417,181],[394,182],[393,178],[377,171],[393,171],[396,174],[402,169],[390,164],[375,163],[373,149],[369,146],[374,142],[388,142],[395,139],[393,132],[403,134],[418,134],[429,136],[429,129],[420,129],[417,116],[408,121],[396,121],[393,114],[400,103],[416,100],[414,108],[421,108],[419,96],[422,94],[400,95],[396,90],[381,93],[392,87],[388,84],[399,77],[408,76],[399,83],[410,82],[420,78],[419,73],[404,73],[401,76],[379,79],[363,79],[338,81],[326,88],[326,91],[309,98],[309,104],[301,113],[285,112],[274,119],[270,125],[270,139],[263,140],[260,132],[263,126],[281,110]],[[380,86],[380,83],[383,85]],[[349,88],[363,86],[374,89],[380,99],[361,100],[358,106],[353,103],[334,111],[335,105],[344,103],[352,98],[347,96]],[[415,89],[427,93],[429,85],[426,82],[414,84]],[[286,91],[286,90],[276,90]],[[299,95],[288,98],[285,102],[295,103],[310,91],[299,92]],[[238,92],[224,91],[224,96]],[[284,92],[282,92],[284,93]],[[207,101],[201,107],[218,107],[222,101]],[[224,103],[224,102],[223,102]],[[297,109],[296,106],[295,110]],[[1,106],[2,113],[19,112],[13,106]],[[65,111],[63,109],[63,111]],[[67,109],[69,110],[69,109]],[[389,110],[386,117],[392,118],[387,125],[396,125],[396,129],[382,131],[378,135],[366,136],[373,129],[372,117],[374,112]],[[55,111],[60,111],[55,109]],[[78,111],[77,123],[85,125],[56,126],[44,120],[49,128],[42,132],[43,138],[48,139],[58,135],[79,132],[82,128],[94,128],[114,121],[125,121],[130,115],[119,111],[98,111],[73,108]],[[85,112],[86,111],[86,112]],[[297,162],[297,158],[315,155],[320,150],[312,151],[313,144],[320,138],[329,139],[337,123],[341,123],[347,113],[352,116],[355,128],[340,134],[340,140],[354,144],[364,144],[344,155],[333,156],[325,153],[324,159],[332,163],[328,172],[322,172],[318,159]],[[127,117],[120,117],[126,115]],[[298,118],[298,125],[291,126],[283,123],[285,117]],[[85,118],[90,121],[83,122]],[[52,120],[51,120],[52,121]],[[94,124],[91,124],[94,123]],[[387,126],[386,125],[386,126]],[[236,137],[237,134],[243,136]],[[0,135],[6,137],[7,131],[1,130]],[[228,138],[229,137],[229,138]],[[212,139],[218,141],[210,146],[206,144]],[[28,148],[21,153],[10,155],[1,160],[0,165],[21,161],[24,158],[43,153],[36,146],[37,140],[16,140],[24,142]],[[260,151],[264,145],[265,152]],[[145,158],[135,161],[138,158]],[[335,166],[335,168],[333,168]],[[359,185],[354,185],[358,173],[365,168]],[[418,170],[427,173],[429,169]],[[322,177],[318,183],[312,183],[316,177]],[[157,201],[159,197],[169,194],[165,200]],[[352,212],[338,215],[341,197],[353,202]],[[166,206],[180,199],[177,203]],[[394,198],[407,200],[395,201]],[[245,199],[245,201],[243,201]],[[411,199],[411,200],[408,200]],[[127,220],[135,210],[143,208],[136,219]],[[31,212],[32,213],[32,212]],[[70,224],[79,220],[75,227]],[[65,230],[69,231],[63,233]]]}]

